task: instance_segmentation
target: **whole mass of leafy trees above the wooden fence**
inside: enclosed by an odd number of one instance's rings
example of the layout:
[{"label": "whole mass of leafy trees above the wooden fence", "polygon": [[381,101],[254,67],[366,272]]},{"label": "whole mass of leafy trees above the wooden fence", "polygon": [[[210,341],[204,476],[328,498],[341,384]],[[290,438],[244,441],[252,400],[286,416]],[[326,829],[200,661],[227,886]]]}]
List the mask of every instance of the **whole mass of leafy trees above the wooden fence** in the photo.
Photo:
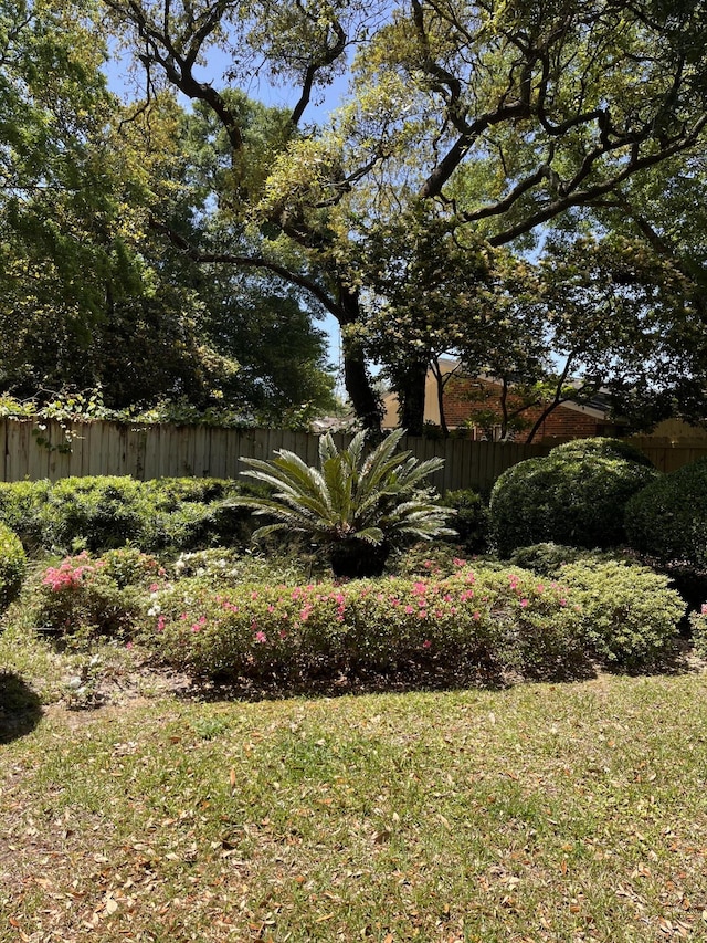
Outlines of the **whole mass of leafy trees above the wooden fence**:
[{"label": "whole mass of leafy trees above the wooden fence", "polygon": [[[697,415],[705,7],[9,0],[0,379],[279,415],[330,399],[327,312],[369,428],[371,362],[420,431],[447,353],[556,392],[577,369],[646,421]],[[106,38],[135,101],[106,87]],[[254,101],[272,86],[287,107]]]}]

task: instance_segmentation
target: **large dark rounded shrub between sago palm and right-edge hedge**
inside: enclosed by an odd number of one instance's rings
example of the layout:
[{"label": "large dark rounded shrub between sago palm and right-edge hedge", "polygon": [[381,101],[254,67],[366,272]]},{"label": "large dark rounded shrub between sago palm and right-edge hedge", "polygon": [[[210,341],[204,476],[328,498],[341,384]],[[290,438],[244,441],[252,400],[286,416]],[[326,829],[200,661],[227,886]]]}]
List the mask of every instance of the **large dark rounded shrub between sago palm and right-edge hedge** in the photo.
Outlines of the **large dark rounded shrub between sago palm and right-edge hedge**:
[{"label": "large dark rounded shrub between sago palm and right-edge hedge", "polygon": [[600,455],[548,455],[505,471],[490,499],[500,556],[539,543],[612,547],[625,539],[624,507],[657,472]]}]

